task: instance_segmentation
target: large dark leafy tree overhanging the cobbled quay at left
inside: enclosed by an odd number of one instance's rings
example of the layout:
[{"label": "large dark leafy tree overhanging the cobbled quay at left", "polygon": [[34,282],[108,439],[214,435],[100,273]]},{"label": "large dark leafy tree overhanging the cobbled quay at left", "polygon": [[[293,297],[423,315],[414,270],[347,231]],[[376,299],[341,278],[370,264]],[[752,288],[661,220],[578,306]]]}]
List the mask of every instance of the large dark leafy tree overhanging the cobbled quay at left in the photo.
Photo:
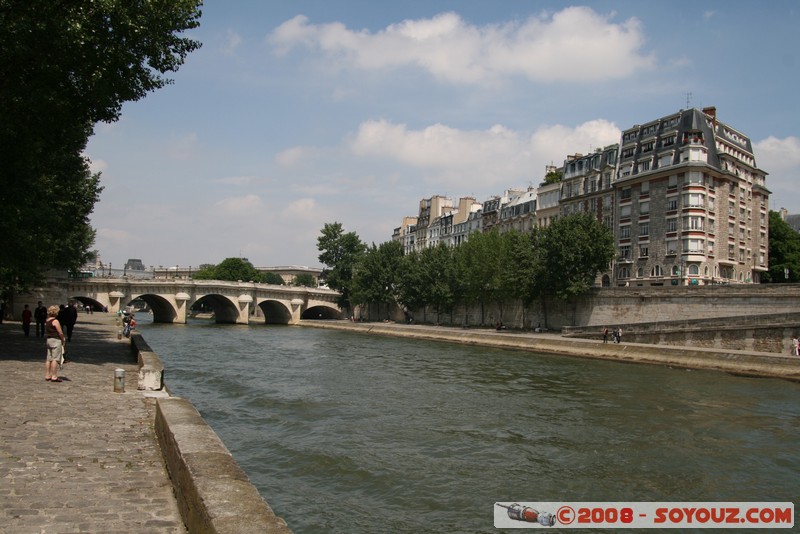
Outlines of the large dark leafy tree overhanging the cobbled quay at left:
[{"label": "large dark leafy tree overhanging the cobbled quay at left", "polygon": [[201,0],[0,0],[0,291],[90,257],[97,122],[170,83]]}]

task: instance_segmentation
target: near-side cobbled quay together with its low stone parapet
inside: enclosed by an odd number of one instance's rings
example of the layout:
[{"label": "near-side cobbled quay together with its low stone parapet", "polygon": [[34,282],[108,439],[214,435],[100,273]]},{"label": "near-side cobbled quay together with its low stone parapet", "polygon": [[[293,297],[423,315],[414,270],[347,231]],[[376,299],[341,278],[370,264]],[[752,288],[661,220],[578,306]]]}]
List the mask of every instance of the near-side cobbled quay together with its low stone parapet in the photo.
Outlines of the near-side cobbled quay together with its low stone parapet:
[{"label": "near-side cobbled quay together with its low stone parapet", "polygon": [[62,382],[45,381],[44,340],[0,324],[0,532],[290,533],[191,403],[164,390],[141,336],[81,314],[67,348]]}]

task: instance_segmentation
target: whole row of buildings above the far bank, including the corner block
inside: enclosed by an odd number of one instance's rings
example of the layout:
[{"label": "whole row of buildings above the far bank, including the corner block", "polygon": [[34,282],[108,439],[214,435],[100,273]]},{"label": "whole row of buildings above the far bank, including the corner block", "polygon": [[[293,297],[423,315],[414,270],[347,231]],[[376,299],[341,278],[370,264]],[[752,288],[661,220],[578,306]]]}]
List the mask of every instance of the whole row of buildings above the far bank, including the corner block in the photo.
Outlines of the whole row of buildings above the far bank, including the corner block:
[{"label": "whole row of buildings above the far bank, including the corner block", "polygon": [[688,109],[633,126],[619,143],[567,156],[538,188],[508,189],[482,204],[420,202],[416,226],[395,239],[420,250],[457,246],[473,231],[531,231],[589,212],[614,230],[616,255],[598,285],[757,284],[768,270],[769,190],[750,139]]}]

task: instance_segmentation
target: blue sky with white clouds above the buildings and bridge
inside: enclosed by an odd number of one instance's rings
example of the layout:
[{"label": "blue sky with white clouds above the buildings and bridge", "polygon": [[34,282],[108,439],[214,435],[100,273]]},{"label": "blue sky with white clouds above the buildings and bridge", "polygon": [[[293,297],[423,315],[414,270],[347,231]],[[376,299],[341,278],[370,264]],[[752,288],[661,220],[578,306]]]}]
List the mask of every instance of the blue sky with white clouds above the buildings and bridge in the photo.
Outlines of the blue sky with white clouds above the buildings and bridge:
[{"label": "blue sky with white clouds above the buildings and bridge", "polygon": [[174,84],[90,140],[95,248],[319,266],[325,223],[387,241],[422,198],[537,185],[687,102],[800,213],[799,25],[797,0],[206,1]]}]

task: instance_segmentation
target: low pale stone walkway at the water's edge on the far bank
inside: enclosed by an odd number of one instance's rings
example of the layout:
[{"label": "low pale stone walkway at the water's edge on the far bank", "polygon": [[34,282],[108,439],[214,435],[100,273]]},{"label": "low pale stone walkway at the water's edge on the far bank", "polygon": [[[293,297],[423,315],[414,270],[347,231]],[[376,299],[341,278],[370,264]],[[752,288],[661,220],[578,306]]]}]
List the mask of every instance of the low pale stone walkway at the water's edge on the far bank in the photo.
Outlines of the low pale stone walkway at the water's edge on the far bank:
[{"label": "low pale stone walkway at the water's edge on the far bank", "polygon": [[624,333],[622,343],[612,343],[610,339],[608,343],[603,343],[602,340],[566,338],[549,332],[461,329],[400,323],[306,320],[301,325],[372,335],[400,336],[686,369],[709,369],[745,376],[800,381],[800,358],[797,356],[745,350],[628,343],[625,341]]}]

